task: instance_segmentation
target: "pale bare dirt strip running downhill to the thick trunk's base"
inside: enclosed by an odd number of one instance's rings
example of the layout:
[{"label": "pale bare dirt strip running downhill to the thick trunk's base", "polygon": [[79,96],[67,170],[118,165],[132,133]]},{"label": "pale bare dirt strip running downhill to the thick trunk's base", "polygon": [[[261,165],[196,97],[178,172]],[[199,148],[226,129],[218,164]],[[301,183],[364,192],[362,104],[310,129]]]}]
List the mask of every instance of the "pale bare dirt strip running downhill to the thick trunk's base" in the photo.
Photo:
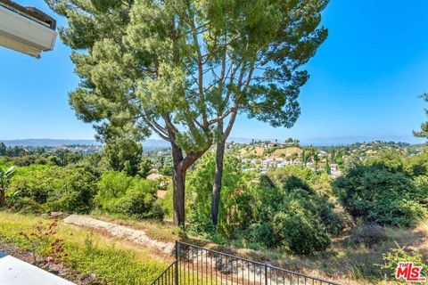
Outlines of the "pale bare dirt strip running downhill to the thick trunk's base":
[{"label": "pale bare dirt strip running downhill to the thick trunk's base", "polygon": [[109,233],[112,237],[128,240],[141,246],[157,248],[166,254],[173,253],[175,247],[175,244],[172,242],[152,240],[142,230],[135,230],[127,226],[104,222],[88,216],[70,215],[66,217],[63,222],[65,224],[74,224],[95,230],[101,230]]}]

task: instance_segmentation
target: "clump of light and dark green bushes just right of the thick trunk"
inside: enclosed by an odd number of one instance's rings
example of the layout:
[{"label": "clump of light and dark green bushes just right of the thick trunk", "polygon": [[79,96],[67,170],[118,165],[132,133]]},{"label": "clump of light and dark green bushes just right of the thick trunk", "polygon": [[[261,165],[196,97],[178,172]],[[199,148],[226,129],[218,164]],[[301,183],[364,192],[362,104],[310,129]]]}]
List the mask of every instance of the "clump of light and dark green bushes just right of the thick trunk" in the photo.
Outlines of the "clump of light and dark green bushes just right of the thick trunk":
[{"label": "clump of light and dark green bushes just right of the thick trunk", "polygon": [[243,174],[241,163],[226,156],[215,232],[209,223],[214,167],[214,156],[206,155],[189,179],[188,219],[194,233],[222,242],[244,240],[251,248],[312,254],[325,250],[330,234],[342,231],[336,205],[314,190],[313,185],[324,183],[322,175],[304,167],[284,167],[269,173],[273,183],[268,175]]}]

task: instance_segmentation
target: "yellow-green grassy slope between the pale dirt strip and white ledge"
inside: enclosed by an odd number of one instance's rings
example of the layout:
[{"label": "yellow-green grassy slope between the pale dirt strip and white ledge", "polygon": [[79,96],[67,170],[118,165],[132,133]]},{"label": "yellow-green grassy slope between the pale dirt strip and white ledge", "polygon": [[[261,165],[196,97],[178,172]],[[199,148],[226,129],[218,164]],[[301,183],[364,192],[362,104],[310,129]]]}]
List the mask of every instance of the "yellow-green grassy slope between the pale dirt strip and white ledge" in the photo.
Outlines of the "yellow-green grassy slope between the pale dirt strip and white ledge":
[{"label": "yellow-green grassy slope between the pale dirt strip and white ledge", "polygon": [[[31,232],[39,221],[48,223],[37,216],[0,212],[0,238],[20,248],[28,248],[18,233]],[[66,241],[70,255],[65,262],[80,273],[95,273],[109,284],[149,284],[168,265],[146,248],[112,242],[96,232],[77,230],[65,224],[59,224],[57,231],[58,237]]]}]

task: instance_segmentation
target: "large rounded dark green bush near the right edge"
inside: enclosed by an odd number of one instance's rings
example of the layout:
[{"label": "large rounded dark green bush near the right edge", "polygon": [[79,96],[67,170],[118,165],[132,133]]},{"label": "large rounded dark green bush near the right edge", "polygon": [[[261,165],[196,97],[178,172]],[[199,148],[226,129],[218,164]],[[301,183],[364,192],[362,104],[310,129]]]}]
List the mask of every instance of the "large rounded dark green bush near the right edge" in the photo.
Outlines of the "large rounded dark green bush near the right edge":
[{"label": "large rounded dark green bush near the right edge", "polygon": [[382,225],[414,225],[425,209],[415,184],[399,169],[400,164],[391,160],[386,165],[352,167],[334,182],[334,191],[355,218]]}]

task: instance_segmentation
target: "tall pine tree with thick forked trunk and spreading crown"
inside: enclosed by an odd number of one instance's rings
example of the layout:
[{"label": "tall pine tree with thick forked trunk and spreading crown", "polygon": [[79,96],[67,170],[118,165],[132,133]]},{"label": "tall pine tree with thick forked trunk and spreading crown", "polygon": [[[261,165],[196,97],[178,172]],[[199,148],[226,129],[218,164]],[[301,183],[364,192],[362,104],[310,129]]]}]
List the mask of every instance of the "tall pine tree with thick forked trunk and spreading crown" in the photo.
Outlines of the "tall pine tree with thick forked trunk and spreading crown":
[{"label": "tall pine tree with thick forked trunk and spreading crown", "polygon": [[45,1],[68,19],[60,35],[80,77],[78,118],[104,141],[155,133],[171,143],[181,226],[187,169],[213,143],[222,166],[238,112],[292,126],[308,79],[300,66],[327,35],[317,28],[327,0]]}]

